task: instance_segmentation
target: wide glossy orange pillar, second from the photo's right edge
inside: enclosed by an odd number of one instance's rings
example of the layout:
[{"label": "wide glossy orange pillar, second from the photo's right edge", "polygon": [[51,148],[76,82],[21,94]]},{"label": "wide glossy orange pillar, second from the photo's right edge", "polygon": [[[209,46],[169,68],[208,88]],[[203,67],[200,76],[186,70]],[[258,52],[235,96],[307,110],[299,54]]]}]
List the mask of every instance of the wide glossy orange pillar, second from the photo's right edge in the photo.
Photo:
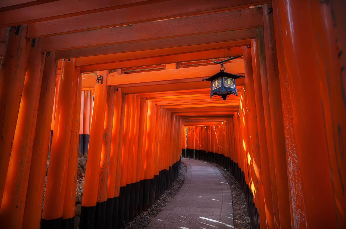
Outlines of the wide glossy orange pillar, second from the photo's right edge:
[{"label": "wide glossy orange pillar, second from the photo's right edge", "polygon": [[[336,212],[328,161],[323,104],[308,1],[273,1],[279,9],[287,78],[292,101],[294,134],[302,180],[307,228],[336,228]],[[297,80],[298,79],[298,80]],[[324,187],[321,189],[321,187]],[[324,196],[324,198],[320,198]],[[320,201],[316,201],[319,199]],[[328,221],[324,220],[328,218]]]}]

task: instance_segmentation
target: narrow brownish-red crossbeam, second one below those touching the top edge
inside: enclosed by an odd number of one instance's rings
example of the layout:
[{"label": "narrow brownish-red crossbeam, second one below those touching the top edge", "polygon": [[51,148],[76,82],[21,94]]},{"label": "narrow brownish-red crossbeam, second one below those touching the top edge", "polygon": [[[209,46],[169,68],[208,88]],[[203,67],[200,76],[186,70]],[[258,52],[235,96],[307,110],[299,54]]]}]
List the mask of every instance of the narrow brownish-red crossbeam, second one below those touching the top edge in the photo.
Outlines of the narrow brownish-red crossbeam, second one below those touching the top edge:
[{"label": "narrow brownish-red crossbeam, second one below those touching the top edge", "polygon": [[95,56],[112,53],[152,51],[153,55],[161,55],[206,51],[212,49],[246,46],[250,38],[257,37],[257,29],[245,29],[233,32],[221,32],[207,35],[194,35],[179,38],[166,38],[158,41],[143,41],[125,44],[87,47],[61,50],[55,54],[56,59],[68,59],[83,56]]}]

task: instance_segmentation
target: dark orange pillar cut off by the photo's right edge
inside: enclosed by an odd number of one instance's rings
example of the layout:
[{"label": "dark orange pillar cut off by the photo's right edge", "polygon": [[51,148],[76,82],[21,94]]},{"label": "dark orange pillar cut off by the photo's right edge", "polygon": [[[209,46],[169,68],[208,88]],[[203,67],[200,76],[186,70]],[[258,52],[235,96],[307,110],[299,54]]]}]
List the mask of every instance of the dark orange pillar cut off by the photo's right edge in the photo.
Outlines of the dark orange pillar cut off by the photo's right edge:
[{"label": "dark orange pillar cut off by the photo's right edge", "polygon": [[[345,54],[336,44],[334,29],[342,22],[335,19],[330,2],[311,1],[310,9],[336,220],[338,228],[345,228],[346,83],[342,78],[345,70],[342,70],[340,63],[340,56]],[[345,43],[338,43],[342,42]]]}]

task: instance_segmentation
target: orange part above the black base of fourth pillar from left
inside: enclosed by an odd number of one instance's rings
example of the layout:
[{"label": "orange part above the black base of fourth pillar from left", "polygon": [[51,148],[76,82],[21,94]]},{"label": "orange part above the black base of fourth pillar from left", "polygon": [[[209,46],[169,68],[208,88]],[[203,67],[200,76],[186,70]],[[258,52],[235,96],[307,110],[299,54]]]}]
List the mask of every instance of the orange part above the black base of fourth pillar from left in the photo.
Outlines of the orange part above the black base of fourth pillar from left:
[{"label": "orange part above the black base of fourth pillar from left", "polygon": [[[56,120],[52,139],[49,173],[42,218],[58,219],[63,214],[67,176],[67,163],[71,138],[72,114],[76,81],[75,59],[63,61],[59,92],[57,96]],[[72,76],[72,77],[71,77]],[[58,131],[57,131],[58,130]]]}]

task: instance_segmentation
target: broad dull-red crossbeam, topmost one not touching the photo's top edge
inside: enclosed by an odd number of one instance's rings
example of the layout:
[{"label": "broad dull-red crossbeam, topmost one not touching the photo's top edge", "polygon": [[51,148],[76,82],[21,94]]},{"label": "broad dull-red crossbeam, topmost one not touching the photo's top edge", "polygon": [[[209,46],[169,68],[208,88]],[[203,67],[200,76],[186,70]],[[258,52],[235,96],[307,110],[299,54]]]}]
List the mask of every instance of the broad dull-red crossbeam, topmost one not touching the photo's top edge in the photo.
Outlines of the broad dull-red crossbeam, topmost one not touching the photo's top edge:
[{"label": "broad dull-red crossbeam, topmost one not touching the photo's top edge", "polygon": [[42,50],[55,51],[151,41],[261,26],[262,8],[251,8],[44,37]]}]

